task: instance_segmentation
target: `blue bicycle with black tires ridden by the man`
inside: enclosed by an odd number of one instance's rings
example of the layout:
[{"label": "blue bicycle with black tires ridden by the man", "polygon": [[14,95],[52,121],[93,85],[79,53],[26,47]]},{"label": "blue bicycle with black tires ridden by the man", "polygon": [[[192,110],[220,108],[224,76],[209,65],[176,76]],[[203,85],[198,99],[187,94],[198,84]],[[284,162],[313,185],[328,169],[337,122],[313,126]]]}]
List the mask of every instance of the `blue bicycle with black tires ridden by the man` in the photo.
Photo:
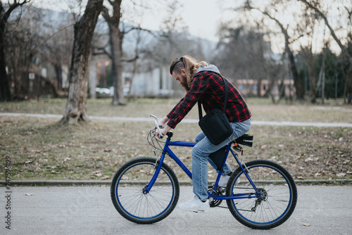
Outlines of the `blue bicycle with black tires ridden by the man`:
[{"label": "blue bicycle with black tires ridden by the man", "polygon": [[[156,128],[159,128],[158,125]],[[128,161],[115,173],[111,183],[111,199],[116,210],[127,220],[138,224],[161,221],[177,205],[180,184],[175,172],[164,163],[166,155],[192,178],[191,171],[170,147],[193,147],[196,143],[171,141],[172,132],[168,132],[168,138],[163,142],[156,138],[156,128],[149,132],[147,138],[156,157]],[[225,157],[221,159],[218,177],[208,189],[210,207],[218,206],[226,200],[228,209],[241,224],[252,229],[277,227],[291,216],[296,207],[297,189],[294,179],[284,167],[270,160],[251,160],[248,163],[240,161],[235,151],[242,151],[241,144],[251,146],[243,139],[237,139],[223,150]],[[218,182],[221,170],[229,153],[234,156],[239,167],[232,172],[227,186],[220,187]]]}]

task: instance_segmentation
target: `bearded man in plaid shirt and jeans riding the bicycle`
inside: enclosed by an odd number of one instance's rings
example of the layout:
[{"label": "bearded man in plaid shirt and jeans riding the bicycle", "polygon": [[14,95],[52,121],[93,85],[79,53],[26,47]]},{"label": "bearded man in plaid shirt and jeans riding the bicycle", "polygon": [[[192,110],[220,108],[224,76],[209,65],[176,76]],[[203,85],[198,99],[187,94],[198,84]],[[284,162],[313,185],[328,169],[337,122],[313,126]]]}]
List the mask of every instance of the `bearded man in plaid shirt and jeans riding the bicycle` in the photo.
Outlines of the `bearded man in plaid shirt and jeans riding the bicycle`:
[{"label": "bearded man in plaid shirt and jeans riding the bicycle", "polygon": [[[215,108],[222,110],[225,97],[224,81],[227,82],[229,87],[225,114],[233,129],[232,135],[218,145],[212,144],[203,132],[196,136],[197,144],[191,153],[193,192],[196,196],[186,203],[179,204],[179,208],[182,210],[209,212],[208,162],[216,169],[209,155],[249,131],[251,128],[251,112],[236,87],[231,82],[222,80],[220,71],[215,65],[208,65],[205,61],[199,62],[191,56],[182,56],[172,61],[170,74],[180,82],[187,94],[160,121],[161,123],[158,123],[158,125],[163,126],[160,133],[163,135],[170,129],[174,129],[197,102],[203,105],[206,113]],[[158,133],[156,133],[156,136],[158,136]],[[231,172],[230,165],[226,163],[219,186],[226,186]]]}]

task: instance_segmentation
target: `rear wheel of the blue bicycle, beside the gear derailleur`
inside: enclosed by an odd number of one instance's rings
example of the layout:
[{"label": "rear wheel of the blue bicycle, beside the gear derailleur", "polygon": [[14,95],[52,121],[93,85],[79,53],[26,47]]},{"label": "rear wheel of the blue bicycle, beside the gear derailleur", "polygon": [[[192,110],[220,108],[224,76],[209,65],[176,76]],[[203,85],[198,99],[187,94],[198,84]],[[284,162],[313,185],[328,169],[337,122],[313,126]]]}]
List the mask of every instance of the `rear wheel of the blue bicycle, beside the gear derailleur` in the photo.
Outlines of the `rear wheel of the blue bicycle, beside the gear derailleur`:
[{"label": "rear wheel of the blue bicycle, beside the gear derailleur", "polygon": [[[297,188],[291,174],[270,160],[252,160],[245,165],[263,197],[227,200],[232,215],[252,229],[272,229],[287,221],[297,203]],[[256,191],[238,167],[227,182],[226,196],[241,193],[254,195]]]}]

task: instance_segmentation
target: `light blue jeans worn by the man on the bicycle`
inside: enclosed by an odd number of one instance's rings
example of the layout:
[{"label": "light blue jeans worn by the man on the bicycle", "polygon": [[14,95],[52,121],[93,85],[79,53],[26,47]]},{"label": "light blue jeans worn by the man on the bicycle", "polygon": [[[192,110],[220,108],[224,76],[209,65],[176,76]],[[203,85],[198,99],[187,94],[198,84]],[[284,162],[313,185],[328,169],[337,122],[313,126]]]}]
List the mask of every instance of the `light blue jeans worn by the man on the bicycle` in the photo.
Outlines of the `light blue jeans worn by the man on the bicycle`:
[{"label": "light blue jeans worn by the man on the bicycle", "polygon": [[[208,199],[208,162],[217,169],[213,161],[208,157],[209,154],[218,151],[231,141],[234,141],[239,136],[248,132],[249,129],[251,129],[251,120],[249,119],[244,122],[231,122],[230,125],[234,132],[229,138],[225,139],[225,141],[218,145],[211,144],[210,140],[203,132],[196,136],[197,144],[192,149],[192,182],[193,192],[201,199],[201,201],[206,201]],[[226,163],[222,175],[226,175],[230,172],[232,172],[231,167]]]}]

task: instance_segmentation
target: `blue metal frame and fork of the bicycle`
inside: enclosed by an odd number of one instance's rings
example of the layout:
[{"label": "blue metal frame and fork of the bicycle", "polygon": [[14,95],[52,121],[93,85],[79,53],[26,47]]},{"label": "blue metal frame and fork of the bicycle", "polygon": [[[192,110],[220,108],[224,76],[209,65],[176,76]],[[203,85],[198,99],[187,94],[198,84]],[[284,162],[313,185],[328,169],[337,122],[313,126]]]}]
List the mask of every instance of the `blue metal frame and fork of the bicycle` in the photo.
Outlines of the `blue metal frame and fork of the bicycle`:
[{"label": "blue metal frame and fork of the bicycle", "polygon": [[[196,145],[196,143],[194,143],[194,142],[171,141],[170,140],[170,136],[168,136],[168,139],[166,139],[166,142],[165,142],[165,145],[164,145],[164,148],[163,148],[163,153],[161,154],[161,158],[160,158],[159,164],[156,167],[156,171],[154,172],[153,177],[151,178],[151,181],[149,182],[149,184],[145,187],[143,193],[144,194],[149,193],[149,191],[151,190],[153,184],[156,182],[156,179],[158,178],[158,174],[159,174],[159,172],[161,170],[161,165],[163,165],[163,161],[165,159],[165,155],[169,155],[170,158],[175,160],[177,165],[179,165],[181,167],[181,169],[189,176],[189,178],[192,179],[191,171],[188,169],[188,167],[186,165],[184,165],[184,163],[182,163],[182,161],[179,158],[177,158],[177,155],[175,155],[175,153],[172,152],[172,150],[170,149],[170,146],[194,147],[195,145]],[[260,196],[262,196],[261,195],[262,193],[258,192],[258,190],[256,189],[256,185],[253,183],[253,181],[251,180],[251,177],[249,177],[249,174],[247,174],[246,170],[244,169],[242,164],[239,162],[238,155],[237,155],[237,153],[234,153],[234,151],[232,151],[231,146],[232,146],[232,142],[226,146],[226,155],[225,155],[225,159],[224,159],[224,161],[222,163],[221,168],[223,169],[223,167],[225,166],[227,157],[228,157],[229,153],[231,152],[232,155],[234,156],[234,158],[236,159],[237,163],[239,164],[239,167],[241,167],[241,170],[244,172],[244,174],[246,175],[247,179],[251,183],[251,186],[253,186],[253,189],[256,191],[256,193],[241,193],[241,194],[237,194],[235,196],[215,196],[215,191],[218,188],[218,182],[219,182],[220,176],[221,176],[221,172],[219,172],[218,173],[218,177],[215,180],[215,184],[214,184],[212,193],[208,192],[209,198],[213,198],[214,200],[259,198]]]}]

